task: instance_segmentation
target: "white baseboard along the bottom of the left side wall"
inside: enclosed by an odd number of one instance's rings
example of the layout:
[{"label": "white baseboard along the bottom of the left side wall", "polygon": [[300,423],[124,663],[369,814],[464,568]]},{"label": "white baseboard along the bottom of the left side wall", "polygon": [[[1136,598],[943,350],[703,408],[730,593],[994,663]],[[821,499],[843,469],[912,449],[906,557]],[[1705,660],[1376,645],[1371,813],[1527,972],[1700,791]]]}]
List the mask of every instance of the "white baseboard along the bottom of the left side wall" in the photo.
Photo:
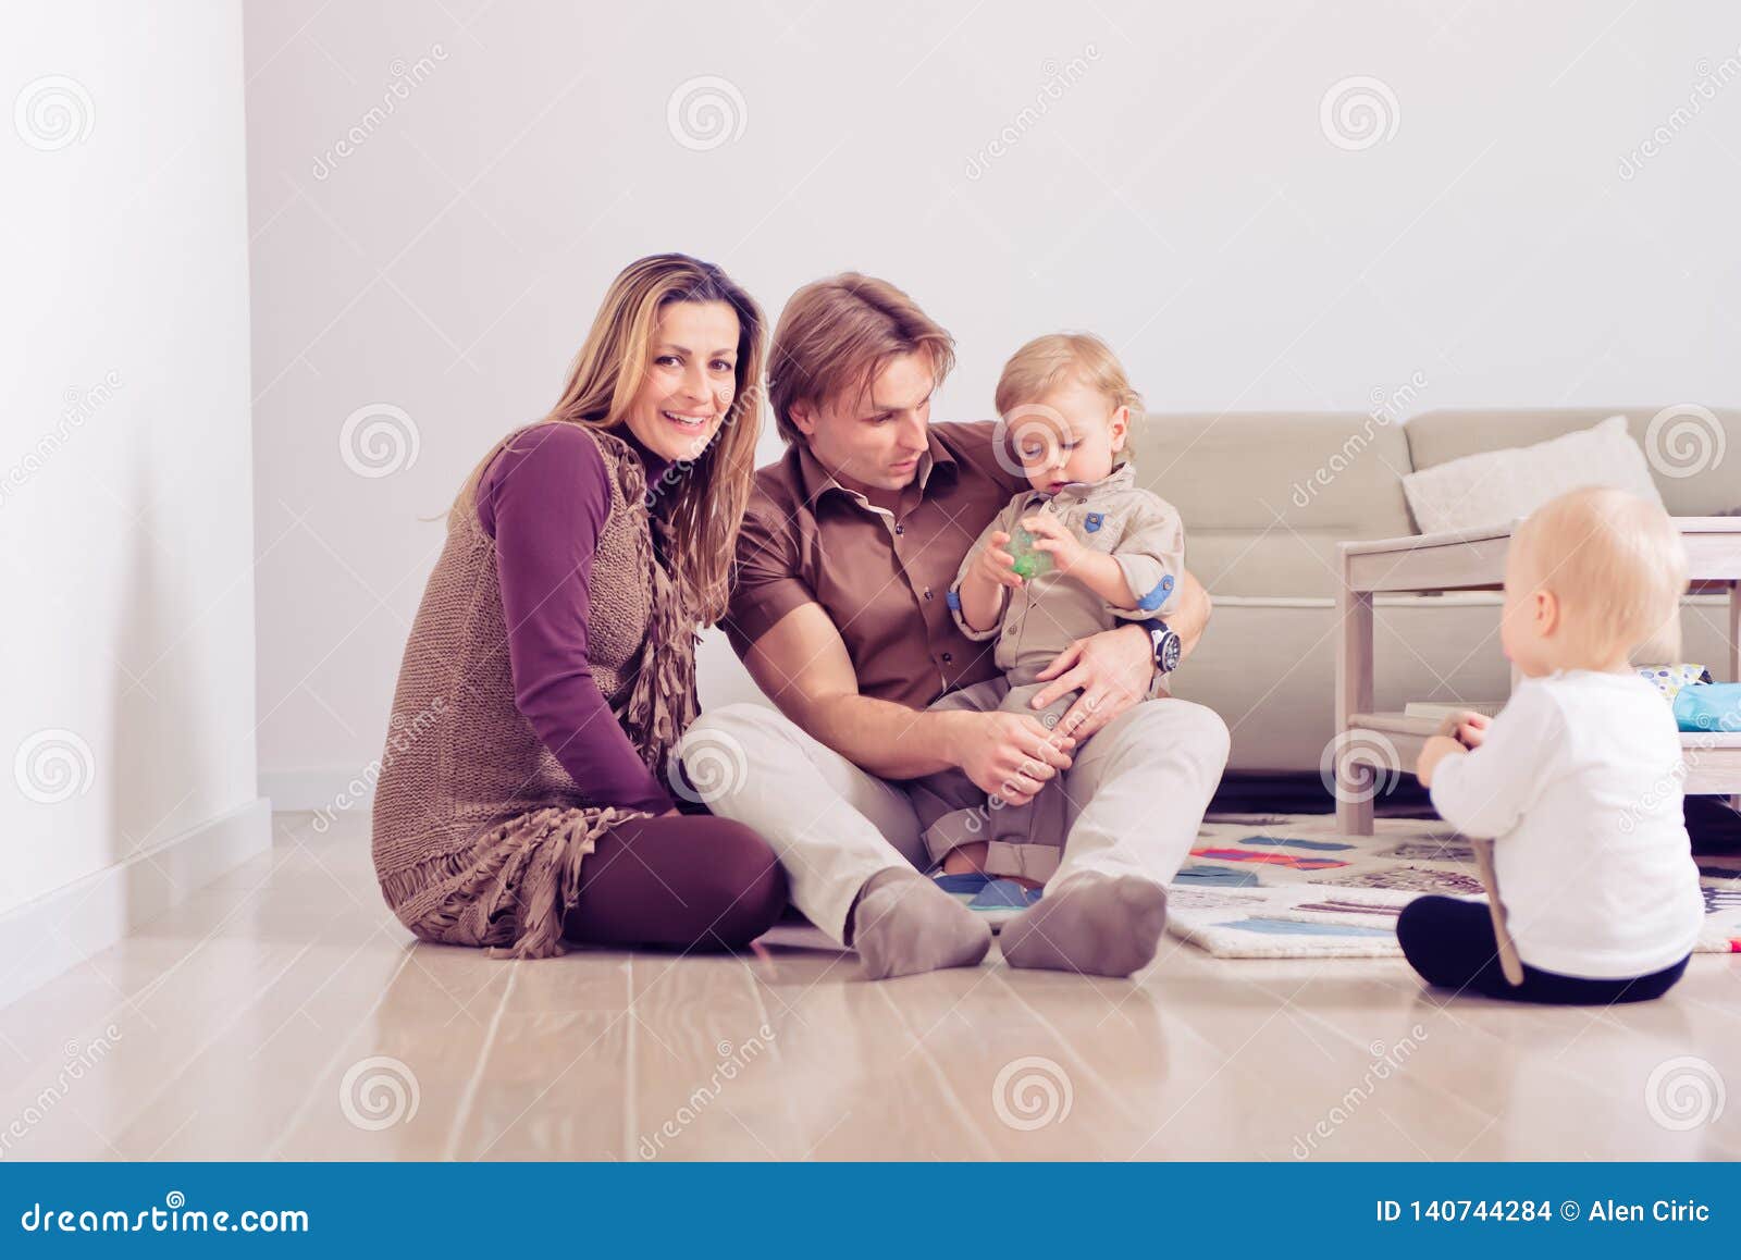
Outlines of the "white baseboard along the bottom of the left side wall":
[{"label": "white baseboard along the bottom of the left side wall", "polygon": [[0,914],[0,1008],[272,848],[272,802],[240,809]]}]

